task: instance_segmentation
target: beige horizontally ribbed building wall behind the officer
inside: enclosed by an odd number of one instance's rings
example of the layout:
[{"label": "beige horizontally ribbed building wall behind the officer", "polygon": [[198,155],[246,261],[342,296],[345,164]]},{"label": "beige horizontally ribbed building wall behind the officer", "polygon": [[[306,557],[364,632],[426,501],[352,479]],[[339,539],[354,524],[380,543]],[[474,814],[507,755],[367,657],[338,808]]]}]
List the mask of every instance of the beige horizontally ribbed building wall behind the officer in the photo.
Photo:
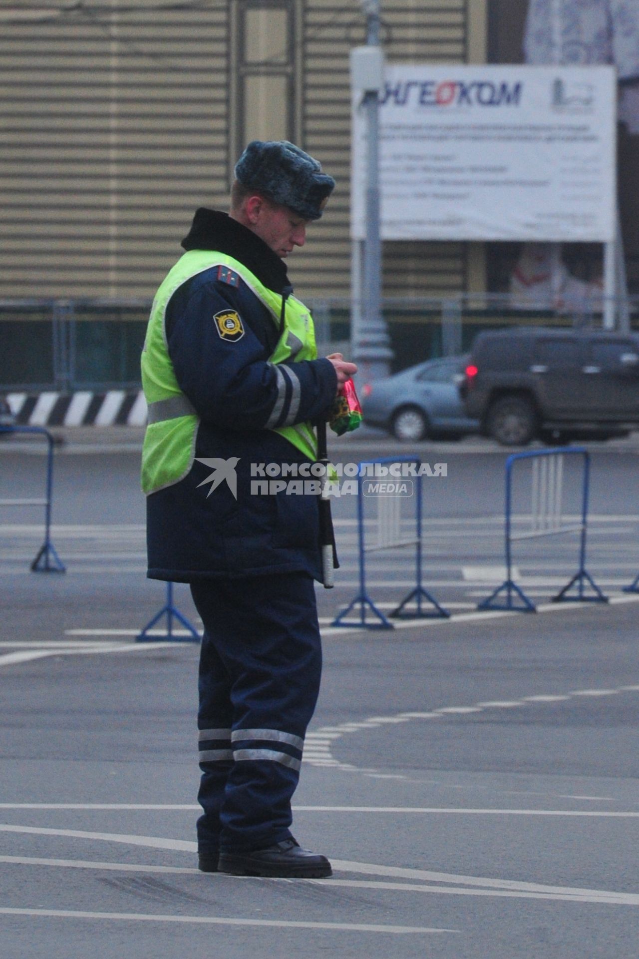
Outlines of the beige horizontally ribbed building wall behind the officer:
[{"label": "beige horizontally ribbed building wall behind the officer", "polygon": [[[481,61],[486,0],[382,0],[390,61]],[[290,261],[348,296],[349,50],[359,0],[38,0],[0,8],[0,297],[148,297],[198,205],[226,208],[252,138],[289,138],[337,188]],[[480,247],[386,244],[384,293],[481,285]]]}]

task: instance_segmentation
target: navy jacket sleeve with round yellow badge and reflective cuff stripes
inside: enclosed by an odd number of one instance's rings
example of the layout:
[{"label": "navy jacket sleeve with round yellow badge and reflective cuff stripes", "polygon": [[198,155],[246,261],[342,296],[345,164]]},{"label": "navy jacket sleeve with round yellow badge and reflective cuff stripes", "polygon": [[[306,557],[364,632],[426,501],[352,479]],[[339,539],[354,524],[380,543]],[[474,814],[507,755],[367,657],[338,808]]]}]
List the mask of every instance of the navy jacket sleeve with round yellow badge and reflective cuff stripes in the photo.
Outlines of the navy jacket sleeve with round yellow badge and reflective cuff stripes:
[{"label": "navy jacket sleeve with round yellow badge and reflective cuff stripes", "polygon": [[[224,314],[231,314],[228,332]],[[337,388],[331,361],[269,363],[254,329],[257,319],[235,288],[196,286],[174,311],[168,332],[180,388],[203,420],[224,429],[275,429],[318,419]]]}]

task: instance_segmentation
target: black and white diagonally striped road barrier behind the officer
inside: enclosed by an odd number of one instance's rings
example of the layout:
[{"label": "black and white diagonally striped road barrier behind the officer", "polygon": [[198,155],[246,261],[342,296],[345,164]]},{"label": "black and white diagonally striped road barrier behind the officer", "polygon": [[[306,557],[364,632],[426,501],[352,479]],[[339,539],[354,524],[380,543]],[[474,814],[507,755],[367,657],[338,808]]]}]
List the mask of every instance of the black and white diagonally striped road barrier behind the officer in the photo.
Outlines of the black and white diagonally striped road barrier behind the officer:
[{"label": "black and white diagonally striped road barrier behind the officer", "polygon": [[104,393],[7,393],[20,426],[146,426],[142,390],[109,389]]}]

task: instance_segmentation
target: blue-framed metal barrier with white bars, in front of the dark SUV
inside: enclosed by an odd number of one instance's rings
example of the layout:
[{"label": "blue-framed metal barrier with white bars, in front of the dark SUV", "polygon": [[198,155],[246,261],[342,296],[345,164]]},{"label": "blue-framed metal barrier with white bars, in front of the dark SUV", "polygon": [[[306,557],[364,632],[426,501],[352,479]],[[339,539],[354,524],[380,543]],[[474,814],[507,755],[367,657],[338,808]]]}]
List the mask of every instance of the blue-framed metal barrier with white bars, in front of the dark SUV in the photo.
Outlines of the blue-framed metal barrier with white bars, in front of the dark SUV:
[{"label": "blue-framed metal barrier with white bars, in front of the dark SUV", "polygon": [[[582,473],[582,516],[579,523],[566,523],[562,517],[563,493],[563,457],[581,456]],[[522,460],[532,460],[531,478],[531,527],[523,532],[513,532],[513,467]],[[506,580],[497,587],[491,596],[477,605],[477,609],[520,610],[535,613],[535,603],[513,581],[513,542],[516,540],[536,539],[541,536],[556,536],[560,533],[579,532],[580,553],[579,570],[572,579],[552,597],[552,602],[607,602],[592,577],[585,570],[585,535],[588,522],[588,492],[590,485],[590,456],[582,447],[566,450],[534,450],[528,453],[515,453],[506,460]],[[585,596],[584,586],[592,587],[594,595]],[[568,591],[577,587],[576,596],[568,596]],[[501,593],[506,593],[505,602],[497,602]],[[518,597],[523,605],[515,605]]]}]

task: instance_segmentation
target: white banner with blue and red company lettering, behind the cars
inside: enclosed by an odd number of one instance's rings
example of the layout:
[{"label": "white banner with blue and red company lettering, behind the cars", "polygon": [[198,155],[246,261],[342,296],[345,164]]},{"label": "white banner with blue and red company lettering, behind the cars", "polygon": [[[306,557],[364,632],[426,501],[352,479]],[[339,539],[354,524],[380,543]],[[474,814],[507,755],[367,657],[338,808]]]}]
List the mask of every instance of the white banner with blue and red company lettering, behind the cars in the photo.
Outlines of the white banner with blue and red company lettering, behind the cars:
[{"label": "white banner with blue and red company lettering, behind the cars", "polygon": [[[607,243],[615,235],[614,67],[387,65],[384,240]],[[354,91],[352,236],[366,236],[366,123]]]}]

